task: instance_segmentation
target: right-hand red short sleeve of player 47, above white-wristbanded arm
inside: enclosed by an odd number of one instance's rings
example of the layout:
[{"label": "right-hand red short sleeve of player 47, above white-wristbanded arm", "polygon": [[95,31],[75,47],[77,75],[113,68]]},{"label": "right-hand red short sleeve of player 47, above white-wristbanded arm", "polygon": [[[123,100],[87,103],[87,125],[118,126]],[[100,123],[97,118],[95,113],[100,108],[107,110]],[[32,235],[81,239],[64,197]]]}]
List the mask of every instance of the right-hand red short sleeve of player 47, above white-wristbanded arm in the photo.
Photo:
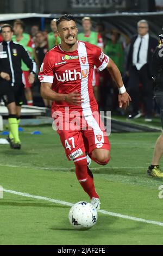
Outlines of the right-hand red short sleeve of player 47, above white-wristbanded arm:
[{"label": "right-hand red short sleeve of player 47, above white-wristbanded arm", "polygon": [[[93,49],[94,50],[94,49]],[[93,60],[94,65],[96,68],[98,68],[100,71],[106,68],[106,66],[109,63],[109,57],[104,54],[99,47],[95,47],[95,50],[93,51]]]}]

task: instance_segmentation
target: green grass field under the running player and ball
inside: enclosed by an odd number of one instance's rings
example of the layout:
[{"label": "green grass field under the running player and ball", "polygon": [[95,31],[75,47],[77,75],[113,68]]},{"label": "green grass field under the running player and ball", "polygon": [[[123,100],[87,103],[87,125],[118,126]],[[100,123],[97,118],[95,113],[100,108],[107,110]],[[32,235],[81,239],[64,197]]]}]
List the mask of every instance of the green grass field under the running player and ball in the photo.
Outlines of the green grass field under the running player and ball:
[{"label": "green grass field under the running player and ball", "polygon": [[91,164],[101,209],[107,212],[98,214],[92,229],[77,231],[68,222],[70,206],[65,202],[89,198],[57,133],[51,126],[24,129],[33,130],[42,135],[21,133],[20,151],[0,145],[0,185],[6,191],[0,199],[0,245],[163,244],[163,199],[158,197],[163,180],[146,175],[159,133],[111,134],[110,163]]}]

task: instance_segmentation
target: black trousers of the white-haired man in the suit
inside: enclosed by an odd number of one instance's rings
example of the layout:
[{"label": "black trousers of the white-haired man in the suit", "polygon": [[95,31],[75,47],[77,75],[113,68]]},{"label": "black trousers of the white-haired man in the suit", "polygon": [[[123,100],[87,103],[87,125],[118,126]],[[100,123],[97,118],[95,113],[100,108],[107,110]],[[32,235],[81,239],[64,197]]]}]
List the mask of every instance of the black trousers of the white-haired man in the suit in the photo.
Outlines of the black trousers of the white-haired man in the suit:
[{"label": "black trousers of the white-haired man in the suit", "polygon": [[142,84],[143,102],[147,117],[152,117],[153,111],[153,80],[149,77],[148,65],[142,66],[140,70],[136,66],[131,67],[129,71],[129,93],[131,96],[131,103],[133,105],[133,112],[139,111],[140,92],[139,84]]}]

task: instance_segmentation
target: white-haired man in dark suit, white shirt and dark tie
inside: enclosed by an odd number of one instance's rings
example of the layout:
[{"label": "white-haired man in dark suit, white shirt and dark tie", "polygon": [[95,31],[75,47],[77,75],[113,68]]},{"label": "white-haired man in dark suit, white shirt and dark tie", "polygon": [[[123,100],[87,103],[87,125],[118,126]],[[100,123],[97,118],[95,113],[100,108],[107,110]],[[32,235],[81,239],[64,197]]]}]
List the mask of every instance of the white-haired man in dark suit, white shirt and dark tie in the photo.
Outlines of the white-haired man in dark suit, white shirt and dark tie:
[{"label": "white-haired man in dark suit, white shirt and dark tie", "polygon": [[158,40],[149,35],[149,26],[146,20],[137,23],[138,35],[131,40],[127,60],[129,72],[129,91],[132,99],[133,113],[128,119],[139,118],[139,84],[142,84],[143,103],[146,112],[145,121],[152,121],[153,110],[153,81],[152,55]]}]

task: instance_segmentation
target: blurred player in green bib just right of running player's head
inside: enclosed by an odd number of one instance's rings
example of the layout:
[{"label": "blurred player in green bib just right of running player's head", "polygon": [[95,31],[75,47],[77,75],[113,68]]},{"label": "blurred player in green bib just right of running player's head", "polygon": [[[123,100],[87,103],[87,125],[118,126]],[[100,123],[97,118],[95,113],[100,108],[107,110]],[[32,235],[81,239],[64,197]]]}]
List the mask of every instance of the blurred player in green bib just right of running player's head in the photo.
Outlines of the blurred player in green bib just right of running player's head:
[{"label": "blurred player in green bib just right of running player's head", "polygon": [[[82,19],[83,33],[78,34],[78,40],[84,42],[90,42],[90,44],[97,45],[103,51],[104,44],[103,39],[100,33],[92,31],[92,20],[90,17],[84,17]],[[96,69],[96,66],[93,70],[93,93],[95,95],[95,99],[98,103],[99,101],[99,71]]]}]

